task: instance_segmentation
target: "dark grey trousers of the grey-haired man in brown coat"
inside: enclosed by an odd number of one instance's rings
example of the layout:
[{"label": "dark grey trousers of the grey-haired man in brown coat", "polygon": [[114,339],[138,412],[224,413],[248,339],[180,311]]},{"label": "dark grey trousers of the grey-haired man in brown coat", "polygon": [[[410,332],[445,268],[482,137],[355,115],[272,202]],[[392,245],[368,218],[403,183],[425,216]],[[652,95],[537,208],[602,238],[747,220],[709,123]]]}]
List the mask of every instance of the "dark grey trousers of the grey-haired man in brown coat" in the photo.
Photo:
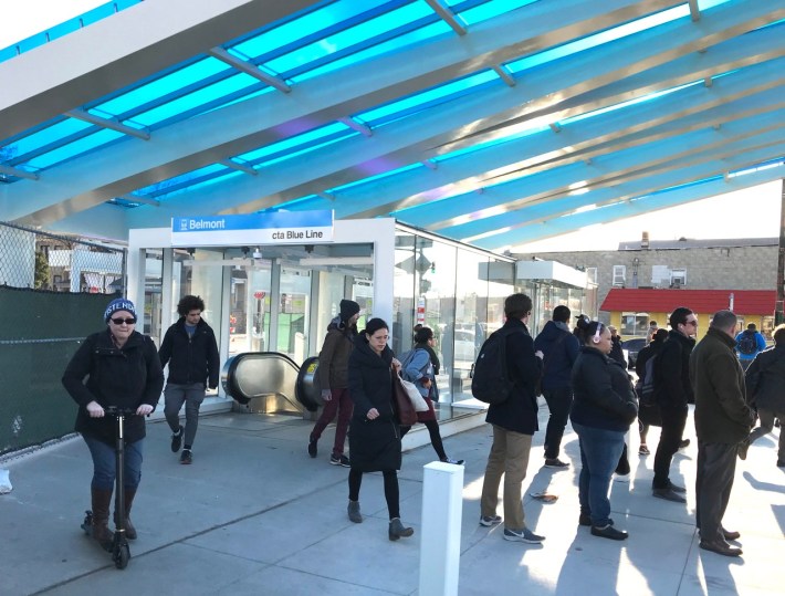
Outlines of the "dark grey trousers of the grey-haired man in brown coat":
[{"label": "dark grey trousers of the grey-haired man in brown coat", "polygon": [[731,499],[737,445],[698,442],[695,525],[701,540],[722,537],[722,517]]}]

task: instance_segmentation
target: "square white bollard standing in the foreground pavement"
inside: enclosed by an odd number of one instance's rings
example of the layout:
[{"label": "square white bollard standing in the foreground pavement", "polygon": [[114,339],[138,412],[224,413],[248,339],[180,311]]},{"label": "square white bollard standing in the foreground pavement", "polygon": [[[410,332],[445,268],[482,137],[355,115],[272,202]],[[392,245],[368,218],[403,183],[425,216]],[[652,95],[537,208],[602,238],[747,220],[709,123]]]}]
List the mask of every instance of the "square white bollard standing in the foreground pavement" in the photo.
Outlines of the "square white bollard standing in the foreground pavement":
[{"label": "square white bollard standing in the foreground pavement", "polygon": [[423,470],[419,594],[457,596],[463,466],[435,461]]}]

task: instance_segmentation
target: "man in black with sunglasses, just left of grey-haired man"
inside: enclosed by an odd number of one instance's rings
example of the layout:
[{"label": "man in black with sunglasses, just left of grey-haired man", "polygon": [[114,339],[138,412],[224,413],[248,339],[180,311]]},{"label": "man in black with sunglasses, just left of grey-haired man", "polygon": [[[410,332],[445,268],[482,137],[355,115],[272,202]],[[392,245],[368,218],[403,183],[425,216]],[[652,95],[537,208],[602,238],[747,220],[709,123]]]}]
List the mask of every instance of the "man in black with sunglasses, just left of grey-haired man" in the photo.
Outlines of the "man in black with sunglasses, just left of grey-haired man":
[{"label": "man in black with sunglasses, just left of grey-haired man", "polygon": [[652,494],[659,499],[685,503],[683,487],[670,481],[673,454],[679,450],[687,424],[688,404],[694,401],[690,384],[690,354],[695,345],[698,317],[684,306],[670,315],[668,339],[655,360],[655,399],[662,415],[662,432],[655,456]]}]

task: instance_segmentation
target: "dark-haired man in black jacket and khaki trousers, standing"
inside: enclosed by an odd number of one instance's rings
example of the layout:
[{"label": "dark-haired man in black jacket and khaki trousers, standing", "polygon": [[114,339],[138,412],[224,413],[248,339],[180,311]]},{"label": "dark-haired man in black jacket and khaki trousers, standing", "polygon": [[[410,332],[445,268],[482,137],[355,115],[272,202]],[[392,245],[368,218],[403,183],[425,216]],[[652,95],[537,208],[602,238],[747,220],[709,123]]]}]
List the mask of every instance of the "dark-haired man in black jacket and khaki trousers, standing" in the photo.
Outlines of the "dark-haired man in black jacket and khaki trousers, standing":
[{"label": "dark-haired man in black jacket and khaki trousers, standing", "polygon": [[[480,524],[501,523],[496,515],[499,484],[504,475],[504,540],[538,544],[545,540],[526,527],[521,501],[521,485],[526,478],[532,437],[537,427],[536,385],[542,375],[542,352],[534,352],[534,342],[526,323],[532,314],[532,299],[512,294],[504,301],[506,322],[500,330],[506,335],[507,375],[514,381],[510,397],[488,409],[485,421],[493,425],[493,445],[488,456],[485,478],[480,500]],[[499,332],[498,332],[499,333]]]}]

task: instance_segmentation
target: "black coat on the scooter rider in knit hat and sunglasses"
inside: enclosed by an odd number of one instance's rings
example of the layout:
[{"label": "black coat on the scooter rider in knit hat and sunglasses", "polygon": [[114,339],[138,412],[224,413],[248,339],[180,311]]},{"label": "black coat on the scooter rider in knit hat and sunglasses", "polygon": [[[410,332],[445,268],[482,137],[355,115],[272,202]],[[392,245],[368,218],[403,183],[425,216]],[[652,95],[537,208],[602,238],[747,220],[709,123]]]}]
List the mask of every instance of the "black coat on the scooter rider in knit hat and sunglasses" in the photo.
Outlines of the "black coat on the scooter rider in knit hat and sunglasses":
[{"label": "black coat on the scooter rider in knit hat and sunglasses", "polygon": [[[86,380],[85,380],[86,377]],[[114,446],[114,418],[91,418],[86,406],[97,401],[102,407],[136,409],[149,404],[155,409],[164,388],[164,373],[153,339],[138,332],[130,334],[118,348],[108,330],[88,336],[76,351],[63,373],[63,386],[78,405],[75,430]],[[145,437],[145,417],[125,419],[125,439]]]}]

